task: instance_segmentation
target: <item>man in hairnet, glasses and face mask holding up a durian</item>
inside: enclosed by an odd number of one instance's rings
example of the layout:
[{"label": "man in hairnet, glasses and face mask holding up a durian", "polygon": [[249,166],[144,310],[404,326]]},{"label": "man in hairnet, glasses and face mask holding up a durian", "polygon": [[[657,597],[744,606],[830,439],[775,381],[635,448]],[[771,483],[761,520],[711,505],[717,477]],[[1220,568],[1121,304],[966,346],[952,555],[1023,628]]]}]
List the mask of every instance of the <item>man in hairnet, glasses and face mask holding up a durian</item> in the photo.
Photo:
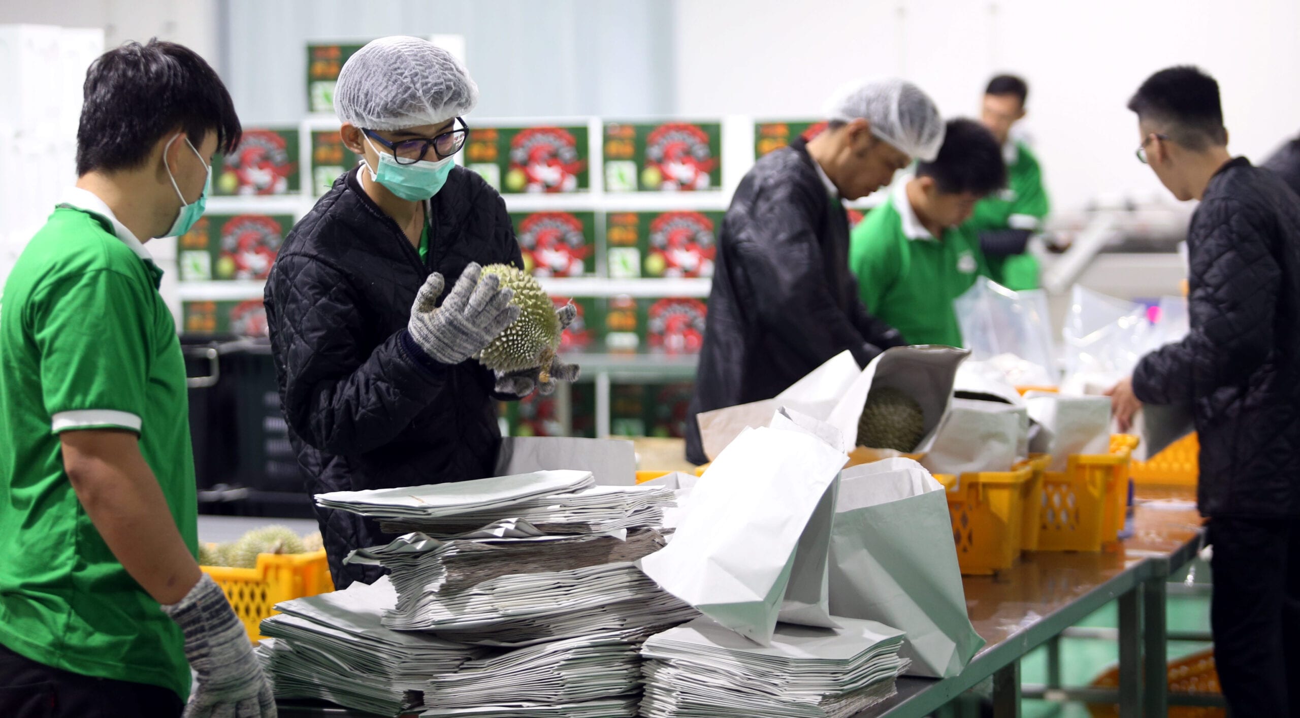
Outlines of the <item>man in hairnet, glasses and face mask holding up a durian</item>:
[{"label": "man in hairnet, glasses and face mask holding up a durian", "polygon": [[[281,403],[308,493],[494,475],[497,402],[578,368],[555,356],[572,306],[523,273],[500,195],[452,157],[478,100],[433,43],[374,40],[339,73],[334,111],[361,163],[289,233],[265,304]],[[337,588],[384,542],[374,522],[316,509]]]}]

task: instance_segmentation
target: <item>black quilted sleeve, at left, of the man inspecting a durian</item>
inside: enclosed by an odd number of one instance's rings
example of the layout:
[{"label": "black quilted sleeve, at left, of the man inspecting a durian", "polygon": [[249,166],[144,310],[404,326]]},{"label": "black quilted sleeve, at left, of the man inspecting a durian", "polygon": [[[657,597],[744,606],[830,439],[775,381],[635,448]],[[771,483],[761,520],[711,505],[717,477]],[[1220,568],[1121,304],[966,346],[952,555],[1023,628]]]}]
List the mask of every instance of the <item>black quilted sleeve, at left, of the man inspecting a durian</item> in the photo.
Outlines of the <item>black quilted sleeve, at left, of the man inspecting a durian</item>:
[{"label": "black quilted sleeve, at left, of the man inspecting a durian", "polygon": [[303,255],[281,256],[266,282],[285,418],[307,444],[360,454],[395,438],[448,384],[448,368],[420,362],[406,329],[363,350],[367,323],[342,273]]}]

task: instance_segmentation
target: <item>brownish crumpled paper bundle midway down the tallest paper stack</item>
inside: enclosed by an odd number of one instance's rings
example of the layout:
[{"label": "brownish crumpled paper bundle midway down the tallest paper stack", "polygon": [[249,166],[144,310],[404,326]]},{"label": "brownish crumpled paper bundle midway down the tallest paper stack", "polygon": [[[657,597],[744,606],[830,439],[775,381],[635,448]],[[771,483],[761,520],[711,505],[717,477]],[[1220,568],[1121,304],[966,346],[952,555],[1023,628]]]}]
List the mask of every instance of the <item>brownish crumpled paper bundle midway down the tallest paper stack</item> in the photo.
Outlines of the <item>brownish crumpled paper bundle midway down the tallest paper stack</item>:
[{"label": "brownish crumpled paper bundle midway down the tallest paper stack", "polygon": [[632,562],[663,546],[663,536],[653,528],[585,536],[448,541],[407,533],[385,546],[352,552],[346,562],[385,566],[393,574],[398,594],[411,601],[421,593],[459,593],[516,574]]}]

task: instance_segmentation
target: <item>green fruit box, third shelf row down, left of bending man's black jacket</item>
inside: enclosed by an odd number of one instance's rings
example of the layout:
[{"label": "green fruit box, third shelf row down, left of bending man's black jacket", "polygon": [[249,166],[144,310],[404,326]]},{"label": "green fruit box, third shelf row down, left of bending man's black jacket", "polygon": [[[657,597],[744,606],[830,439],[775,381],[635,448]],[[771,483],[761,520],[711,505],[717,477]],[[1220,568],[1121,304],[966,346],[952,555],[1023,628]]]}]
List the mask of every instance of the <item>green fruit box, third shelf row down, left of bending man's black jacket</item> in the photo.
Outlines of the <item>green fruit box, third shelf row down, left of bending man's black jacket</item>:
[{"label": "green fruit box, third shelf row down, left of bending man's black jacket", "polygon": [[604,347],[611,354],[698,354],[708,303],[689,297],[611,297],[604,310]]}]

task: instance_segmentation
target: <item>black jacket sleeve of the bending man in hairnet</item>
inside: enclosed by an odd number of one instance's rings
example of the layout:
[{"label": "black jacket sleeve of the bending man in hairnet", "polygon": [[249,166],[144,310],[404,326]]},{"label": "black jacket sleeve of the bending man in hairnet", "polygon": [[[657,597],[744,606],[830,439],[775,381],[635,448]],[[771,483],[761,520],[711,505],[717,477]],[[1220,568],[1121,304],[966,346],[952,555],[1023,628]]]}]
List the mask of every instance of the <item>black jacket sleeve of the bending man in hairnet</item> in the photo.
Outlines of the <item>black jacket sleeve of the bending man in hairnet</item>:
[{"label": "black jacket sleeve of the bending man in hairnet", "polygon": [[[844,350],[866,366],[880,354],[826,287],[811,211],[800,198],[757,198],[751,235],[736,242],[736,263],[753,287],[759,323],[818,366]],[[755,237],[757,235],[757,237]],[[857,304],[857,302],[854,302]]]}]

